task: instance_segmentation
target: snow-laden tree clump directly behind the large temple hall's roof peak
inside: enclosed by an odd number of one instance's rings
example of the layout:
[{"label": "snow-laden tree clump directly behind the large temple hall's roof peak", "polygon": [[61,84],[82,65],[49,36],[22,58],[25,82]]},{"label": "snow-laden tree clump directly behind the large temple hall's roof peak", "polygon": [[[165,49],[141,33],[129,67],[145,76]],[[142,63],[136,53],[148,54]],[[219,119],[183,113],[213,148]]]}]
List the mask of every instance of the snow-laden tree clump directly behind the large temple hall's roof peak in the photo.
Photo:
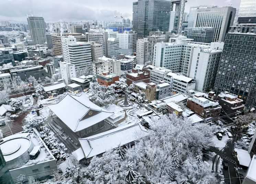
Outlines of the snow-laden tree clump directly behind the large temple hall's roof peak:
[{"label": "snow-laden tree clump directly behind the large temple hall's roof peak", "polygon": [[98,82],[93,82],[90,85],[90,101],[99,106],[113,104],[116,99],[115,90],[111,86],[100,85]]}]

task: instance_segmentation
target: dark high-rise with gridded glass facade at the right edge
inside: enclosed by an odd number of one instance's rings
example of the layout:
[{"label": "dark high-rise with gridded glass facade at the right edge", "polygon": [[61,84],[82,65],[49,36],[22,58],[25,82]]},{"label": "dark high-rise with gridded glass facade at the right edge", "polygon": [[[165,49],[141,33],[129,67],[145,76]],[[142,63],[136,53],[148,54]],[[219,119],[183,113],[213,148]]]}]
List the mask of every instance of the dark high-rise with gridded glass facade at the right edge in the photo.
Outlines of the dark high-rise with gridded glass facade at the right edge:
[{"label": "dark high-rise with gridded glass facade at the right edge", "polygon": [[227,33],[214,90],[217,93],[229,91],[238,95],[248,109],[255,107],[255,61],[256,34],[237,31]]}]

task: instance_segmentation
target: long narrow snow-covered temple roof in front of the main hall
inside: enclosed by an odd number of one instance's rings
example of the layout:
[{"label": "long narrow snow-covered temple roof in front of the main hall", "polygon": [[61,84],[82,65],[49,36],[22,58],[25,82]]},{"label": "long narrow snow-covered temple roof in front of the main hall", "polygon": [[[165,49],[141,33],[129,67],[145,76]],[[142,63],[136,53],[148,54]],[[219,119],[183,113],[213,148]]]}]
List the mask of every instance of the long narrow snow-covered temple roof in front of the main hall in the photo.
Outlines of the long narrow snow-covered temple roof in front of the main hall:
[{"label": "long narrow snow-covered temple roof in front of the main hall", "polygon": [[86,138],[79,142],[86,158],[102,154],[108,150],[125,145],[147,136],[149,132],[140,124],[128,124]]}]

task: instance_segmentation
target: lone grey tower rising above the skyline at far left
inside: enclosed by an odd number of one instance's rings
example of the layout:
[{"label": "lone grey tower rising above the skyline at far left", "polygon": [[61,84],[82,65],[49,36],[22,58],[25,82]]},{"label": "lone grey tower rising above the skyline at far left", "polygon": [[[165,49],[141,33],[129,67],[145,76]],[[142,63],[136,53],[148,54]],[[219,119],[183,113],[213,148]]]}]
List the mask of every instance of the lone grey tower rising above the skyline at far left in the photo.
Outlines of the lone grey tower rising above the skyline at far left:
[{"label": "lone grey tower rising above the skyline at far left", "polygon": [[28,16],[27,23],[29,24],[29,30],[34,45],[44,44],[46,42],[44,18],[40,16]]}]

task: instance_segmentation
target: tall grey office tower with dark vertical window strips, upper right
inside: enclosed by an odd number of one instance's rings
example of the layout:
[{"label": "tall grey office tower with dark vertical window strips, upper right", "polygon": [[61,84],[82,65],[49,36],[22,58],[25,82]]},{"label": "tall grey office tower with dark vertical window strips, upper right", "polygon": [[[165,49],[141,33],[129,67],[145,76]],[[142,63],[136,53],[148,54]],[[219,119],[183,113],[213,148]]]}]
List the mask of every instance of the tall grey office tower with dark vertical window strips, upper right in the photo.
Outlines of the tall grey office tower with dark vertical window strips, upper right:
[{"label": "tall grey office tower with dark vertical window strips, upper right", "polygon": [[233,25],[235,12],[233,7],[197,9],[193,27],[214,27],[213,42],[224,42],[229,27]]}]

